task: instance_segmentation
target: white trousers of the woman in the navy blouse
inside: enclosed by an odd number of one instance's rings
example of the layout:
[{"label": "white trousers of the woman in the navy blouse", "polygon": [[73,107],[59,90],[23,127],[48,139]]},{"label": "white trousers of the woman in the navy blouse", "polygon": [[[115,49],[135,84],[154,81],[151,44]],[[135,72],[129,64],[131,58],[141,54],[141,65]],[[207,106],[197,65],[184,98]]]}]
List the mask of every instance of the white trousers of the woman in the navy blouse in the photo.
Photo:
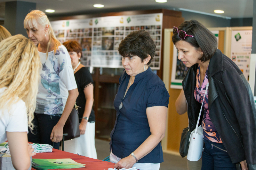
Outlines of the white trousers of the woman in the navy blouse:
[{"label": "white trousers of the woman in the navy blouse", "polygon": [[[116,155],[114,155],[112,152],[110,152],[109,161],[112,163],[117,163],[121,160],[121,158],[118,158]],[[136,167],[140,170],[159,170],[160,163],[153,164],[153,163],[135,163],[132,167]]]}]

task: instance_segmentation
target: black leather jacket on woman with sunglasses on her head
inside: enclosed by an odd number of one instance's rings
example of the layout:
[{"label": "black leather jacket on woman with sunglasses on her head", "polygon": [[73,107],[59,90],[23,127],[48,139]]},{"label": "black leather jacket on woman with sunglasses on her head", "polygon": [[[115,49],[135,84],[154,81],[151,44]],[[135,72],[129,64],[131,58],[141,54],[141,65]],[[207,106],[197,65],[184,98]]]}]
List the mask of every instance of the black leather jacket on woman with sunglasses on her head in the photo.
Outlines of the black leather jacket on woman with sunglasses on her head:
[{"label": "black leather jacket on woman with sunglasses on her head", "polygon": [[[191,66],[182,81],[191,131],[196,128],[201,107],[194,97],[197,67],[198,64]],[[256,170],[256,105],[249,83],[219,49],[210,60],[208,79],[209,116],[232,163],[246,159],[248,168]],[[200,123],[202,117],[203,113]]]}]

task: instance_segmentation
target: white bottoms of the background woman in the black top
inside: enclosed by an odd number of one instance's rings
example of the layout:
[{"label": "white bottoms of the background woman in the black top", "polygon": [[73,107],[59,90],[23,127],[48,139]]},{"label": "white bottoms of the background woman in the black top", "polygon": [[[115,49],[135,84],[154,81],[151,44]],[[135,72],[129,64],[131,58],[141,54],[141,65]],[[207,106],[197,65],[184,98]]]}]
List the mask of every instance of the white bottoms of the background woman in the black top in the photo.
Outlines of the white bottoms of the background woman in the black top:
[{"label": "white bottoms of the background woman in the black top", "polygon": [[97,159],[95,149],[95,122],[88,122],[84,135],[65,141],[65,152],[83,155]]}]

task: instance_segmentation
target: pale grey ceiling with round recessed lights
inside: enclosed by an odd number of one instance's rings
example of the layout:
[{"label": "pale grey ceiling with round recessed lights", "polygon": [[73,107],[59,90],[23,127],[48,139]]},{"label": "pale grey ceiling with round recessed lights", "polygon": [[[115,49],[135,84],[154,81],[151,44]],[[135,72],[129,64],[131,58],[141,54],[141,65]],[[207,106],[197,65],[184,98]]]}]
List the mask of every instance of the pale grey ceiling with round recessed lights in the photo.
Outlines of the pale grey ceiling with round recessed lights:
[{"label": "pale grey ceiling with round recessed lights", "polygon": [[[0,18],[3,18],[3,2],[13,0],[0,0]],[[170,9],[188,10],[216,14],[213,10],[223,10],[225,13],[218,14],[231,18],[251,18],[253,12],[253,0],[167,0],[166,3],[156,3],[155,0],[26,0],[36,3],[36,8],[41,11],[53,9],[55,13],[49,14],[88,14],[111,11]],[[2,2],[2,3],[1,3]],[[94,8],[93,4],[103,4],[104,8]],[[48,14],[47,14],[48,15]]]}]

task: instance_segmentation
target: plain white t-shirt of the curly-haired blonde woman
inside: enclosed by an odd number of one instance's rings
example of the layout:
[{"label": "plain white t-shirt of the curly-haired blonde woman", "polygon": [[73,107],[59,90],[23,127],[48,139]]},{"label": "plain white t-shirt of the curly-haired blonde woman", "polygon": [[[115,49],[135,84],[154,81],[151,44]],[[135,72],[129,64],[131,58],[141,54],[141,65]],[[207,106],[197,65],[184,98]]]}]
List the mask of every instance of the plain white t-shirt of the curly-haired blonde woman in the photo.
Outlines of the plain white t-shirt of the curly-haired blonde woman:
[{"label": "plain white t-shirt of the curly-haired blonde woman", "polygon": [[[6,87],[0,89],[0,97],[6,89]],[[0,109],[0,144],[7,140],[6,131],[28,133],[28,117],[25,102],[19,100],[10,107],[9,111],[8,109]]]}]

